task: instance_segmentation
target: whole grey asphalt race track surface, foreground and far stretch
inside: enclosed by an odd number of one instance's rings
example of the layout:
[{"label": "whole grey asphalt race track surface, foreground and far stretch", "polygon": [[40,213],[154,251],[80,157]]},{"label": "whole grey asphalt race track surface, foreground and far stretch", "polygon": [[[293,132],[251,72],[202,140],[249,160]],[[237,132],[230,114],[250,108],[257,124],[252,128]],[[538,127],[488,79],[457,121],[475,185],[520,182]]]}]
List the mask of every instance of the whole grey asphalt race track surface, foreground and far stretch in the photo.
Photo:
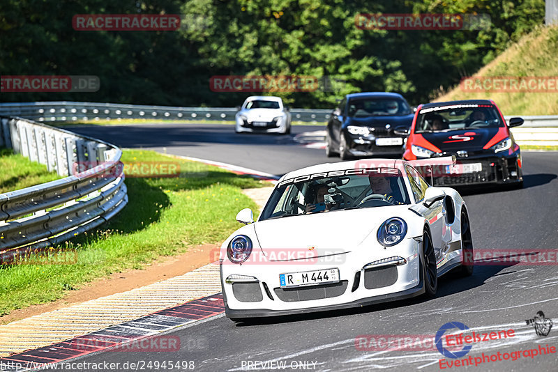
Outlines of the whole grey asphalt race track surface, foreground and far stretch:
[{"label": "whole grey asphalt race track surface, foreground and far stretch", "polygon": [[[294,134],[321,130],[294,126]],[[128,148],[150,148],[175,155],[228,162],[281,175],[301,166],[328,160],[324,150],[297,145],[289,137],[234,134],[231,125],[126,125],[73,127]],[[524,152],[525,188],[467,192],[474,248],[530,249],[537,254],[556,252],[558,233],[558,153]],[[340,231],[339,233],[346,233]],[[555,256],[554,256],[555,257]],[[452,274],[439,281],[434,299],[417,297],[360,309],[272,318],[259,323],[233,323],[216,316],[181,327],[172,335],[181,339],[175,352],[103,352],[80,362],[193,361],[195,371],[556,371],[558,352],[525,356],[517,352],[558,346],[558,325],[548,336],[538,336],[525,320],[537,311],[558,319],[558,273],[553,265],[506,263],[476,265],[474,275]],[[512,357],[478,366],[440,364],[440,352],[416,343],[402,350],[385,347],[393,336],[434,337],[442,325],[460,322],[476,332],[514,330],[515,336],[474,343],[463,358],[514,352]],[[555,321],[556,323],[556,321]],[[370,335],[365,339],[361,335]],[[357,341],[356,339],[359,338]],[[383,338],[383,339],[382,339]],[[362,340],[365,340],[364,342]],[[382,341],[378,344],[378,341]],[[426,344],[426,343],[425,343]],[[424,345],[425,345],[424,344]],[[397,343],[395,343],[397,346]],[[413,347],[414,346],[414,347]],[[532,355],[533,353],[531,353]],[[445,359],[447,363],[456,359]],[[257,362],[257,363],[256,363]],[[285,369],[281,369],[285,366]],[[442,368],[444,367],[444,368]],[[155,369],[145,369],[154,371]],[[167,369],[169,370],[169,369]],[[173,371],[178,371],[174,369]]]}]

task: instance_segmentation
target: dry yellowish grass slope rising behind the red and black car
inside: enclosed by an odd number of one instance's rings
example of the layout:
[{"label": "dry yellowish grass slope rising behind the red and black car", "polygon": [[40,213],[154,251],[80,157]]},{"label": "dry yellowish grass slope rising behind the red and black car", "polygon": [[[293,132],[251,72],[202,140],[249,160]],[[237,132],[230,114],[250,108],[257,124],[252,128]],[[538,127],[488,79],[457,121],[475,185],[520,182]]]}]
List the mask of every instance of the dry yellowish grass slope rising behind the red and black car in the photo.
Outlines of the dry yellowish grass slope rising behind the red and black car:
[{"label": "dry yellowish grass slope rising behind the red and black car", "polygon": [[[485,65],[475,77],[557,77],[558,26],[541,26],[511,45],[494,61]],[[436,98],[449,100],[492,99],[504,115],[557,115],[558,93],[467,93],[456,86]]]}]

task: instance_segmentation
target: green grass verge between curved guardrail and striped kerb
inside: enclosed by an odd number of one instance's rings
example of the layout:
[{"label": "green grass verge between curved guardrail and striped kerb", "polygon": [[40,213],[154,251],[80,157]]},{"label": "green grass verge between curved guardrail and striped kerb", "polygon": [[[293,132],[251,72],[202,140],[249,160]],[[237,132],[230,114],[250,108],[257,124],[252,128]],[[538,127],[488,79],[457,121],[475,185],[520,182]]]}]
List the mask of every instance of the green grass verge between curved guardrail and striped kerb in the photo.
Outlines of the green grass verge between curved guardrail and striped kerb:
[{"label": "green grass verge between curved guardrail and striped kerb", "polygon": [[241,189],[269,185],[153,151],[124,151],[125,164],[139,160],[179,162],[181,177],[127,178],[128,206],[103,228],[36,254],[27,264],[0,268],[0,315],[56,300],[86,281],[143,268],[193,245],[222,242],[240,227],[239,210],[257,212]]}]

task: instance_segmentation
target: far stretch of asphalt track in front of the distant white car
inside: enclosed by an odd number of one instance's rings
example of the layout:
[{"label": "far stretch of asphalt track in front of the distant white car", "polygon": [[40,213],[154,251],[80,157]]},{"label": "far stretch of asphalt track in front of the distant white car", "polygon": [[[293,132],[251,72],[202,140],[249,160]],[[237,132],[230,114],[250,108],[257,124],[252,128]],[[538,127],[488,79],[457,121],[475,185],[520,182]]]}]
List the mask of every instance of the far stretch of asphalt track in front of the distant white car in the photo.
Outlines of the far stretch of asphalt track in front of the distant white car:
[{"label": "far stretch of asphalt track in front of the distant white car", "polygon": [[321,162],[340,161],[338,157],[328,160],[324,150],[296,146],[293,137],[302,132],[324,129],[317,125],[294,125],[288,136],[236,134],[233,125],[223,124],[80,125],[68,129],[80,134],[94,134],[98,136],[96,138],[124,148],[145,148],[232,163],[276,175]]}]

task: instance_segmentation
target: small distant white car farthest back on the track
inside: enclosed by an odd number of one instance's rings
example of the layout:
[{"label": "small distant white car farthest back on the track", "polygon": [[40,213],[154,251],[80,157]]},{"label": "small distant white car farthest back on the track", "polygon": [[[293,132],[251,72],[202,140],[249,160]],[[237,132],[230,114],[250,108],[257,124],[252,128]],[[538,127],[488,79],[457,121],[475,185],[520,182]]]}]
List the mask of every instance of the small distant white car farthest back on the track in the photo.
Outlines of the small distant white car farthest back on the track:
[{"label": "small distant white car farthest back on the track", "polygon": [[240,107],[235,116],[234,131],[267,132],[289,134],[291,113],[281,98],[267,95],[252,95]]}]

